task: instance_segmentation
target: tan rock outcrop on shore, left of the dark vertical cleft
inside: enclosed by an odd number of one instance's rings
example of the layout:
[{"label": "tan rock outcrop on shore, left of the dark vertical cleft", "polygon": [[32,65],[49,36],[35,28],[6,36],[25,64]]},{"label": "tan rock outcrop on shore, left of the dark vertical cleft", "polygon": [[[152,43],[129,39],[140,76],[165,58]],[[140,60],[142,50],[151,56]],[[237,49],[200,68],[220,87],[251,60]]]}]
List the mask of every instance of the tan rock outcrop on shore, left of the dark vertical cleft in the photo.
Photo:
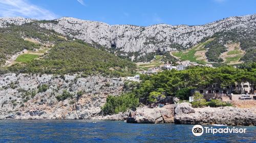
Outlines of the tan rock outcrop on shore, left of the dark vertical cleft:
[{"label": "tan rock outcrop on shore, left of the dark vertical cleft", "polygon": [[[132,112],[132,111],[130,111]],[[131,113],[130,113],[131,114]],[[135,121],[133,123],[158,124],[174,123],[174,107],[165,105],[162,108],[139,107],[134,112]],[[126,120],[129,123],[129,120]]]}]

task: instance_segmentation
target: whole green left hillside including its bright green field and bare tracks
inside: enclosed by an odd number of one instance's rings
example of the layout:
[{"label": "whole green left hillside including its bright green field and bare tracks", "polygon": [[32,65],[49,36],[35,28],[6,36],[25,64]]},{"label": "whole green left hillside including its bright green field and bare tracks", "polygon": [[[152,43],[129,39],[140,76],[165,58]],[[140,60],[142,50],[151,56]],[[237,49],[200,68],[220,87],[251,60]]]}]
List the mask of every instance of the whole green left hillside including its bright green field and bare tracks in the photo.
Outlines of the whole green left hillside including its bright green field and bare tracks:
[{"label": "whole green left hillside including its bright green field and bare tracks", "polygon": [[127,76],[136,70],[129,60],[95,49],[82,40],[40,28],[39,23],[0,28],[0,74],[83,72],[84,76]]}]

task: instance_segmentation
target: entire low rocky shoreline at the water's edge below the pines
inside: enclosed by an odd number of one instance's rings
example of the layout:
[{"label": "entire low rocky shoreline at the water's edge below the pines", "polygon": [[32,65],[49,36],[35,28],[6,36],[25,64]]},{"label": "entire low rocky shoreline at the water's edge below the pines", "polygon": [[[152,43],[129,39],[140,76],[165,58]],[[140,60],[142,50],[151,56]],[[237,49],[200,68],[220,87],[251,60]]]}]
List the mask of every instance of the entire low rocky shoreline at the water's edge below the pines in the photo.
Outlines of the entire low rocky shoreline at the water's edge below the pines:
[{"label": "entire low rocky shoreline at the water's edge below the pines", "polygon": [[[134,116],[131,116],[134,115]],[[255,108],[205,107],[193,108],[189,103],[166,105],[162,108],[139,107],[136,111],[127,111],[100,119],[127,123],[175,123],[175,124],[226,124],[228,126],[256,126]]]}]

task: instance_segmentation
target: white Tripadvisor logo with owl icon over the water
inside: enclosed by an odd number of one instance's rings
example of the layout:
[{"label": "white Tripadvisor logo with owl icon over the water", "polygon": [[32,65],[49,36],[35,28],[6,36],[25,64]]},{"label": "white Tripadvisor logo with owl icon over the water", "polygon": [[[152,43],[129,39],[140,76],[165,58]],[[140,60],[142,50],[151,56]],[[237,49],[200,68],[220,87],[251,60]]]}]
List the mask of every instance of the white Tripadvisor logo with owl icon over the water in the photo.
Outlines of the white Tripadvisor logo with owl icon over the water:
[{"label": "white Tripadvisor logo with owl icon over the water", "polygon": [[[204,132],[205,131],[205,132]],[[203,133],[211,133],[211,134],[216,134],[216,133],[245,133],[246,128],[213,128],[213,127],[202,127],[201,125],[195,125],[192,128],[192,133],[195,136],[200,136]]]}]

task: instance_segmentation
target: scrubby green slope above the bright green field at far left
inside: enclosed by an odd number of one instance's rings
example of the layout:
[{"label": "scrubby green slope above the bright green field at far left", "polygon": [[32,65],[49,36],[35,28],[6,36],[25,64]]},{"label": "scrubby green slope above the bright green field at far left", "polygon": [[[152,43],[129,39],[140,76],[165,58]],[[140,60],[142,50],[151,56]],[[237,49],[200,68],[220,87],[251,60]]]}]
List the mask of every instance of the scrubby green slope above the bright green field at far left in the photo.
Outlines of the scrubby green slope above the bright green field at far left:
[{"label": "scrubby green slope above the bright green field at far left", "polygon": [[40,28],[37,23],[33,22],[21,26],[10,25],[7,28],[0,28],[0,65],[5,63],[8,56],[17,52],[25,49],[39,49],[41,44],[24,40],[24,38],[38,39],[41,43],[64,41],[63,38],[56,35],[56,32]]}]

